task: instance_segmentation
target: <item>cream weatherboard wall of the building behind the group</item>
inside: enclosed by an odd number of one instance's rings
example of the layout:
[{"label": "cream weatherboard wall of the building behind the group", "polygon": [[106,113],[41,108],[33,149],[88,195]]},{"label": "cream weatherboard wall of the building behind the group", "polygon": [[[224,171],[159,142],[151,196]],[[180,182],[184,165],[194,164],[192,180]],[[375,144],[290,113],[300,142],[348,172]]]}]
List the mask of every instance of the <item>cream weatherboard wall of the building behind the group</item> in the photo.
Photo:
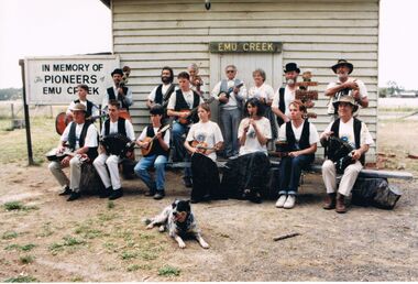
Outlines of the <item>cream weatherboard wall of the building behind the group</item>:
[{"label": "cream weatherboard wall of the building behind the group", "polygon": [[[148,121],[146,96],[160,83],[163,66],[177,74],[197,63],[210,83],[209,42],[272,41],[283,42],[283,64],[296,62],[319,81],[320,99],[314,108],[319,117],[312,120],[319,132],[329,122],[323,90],[336,79],[330,66],[339,58],[352,62],[352,75],[366,84],[370,98],[370,107],[361,110],[360,118],[376,138],[378,0],[216,0],[209,11],[204,2],[111,1],[113,52],[120,55],[122,66],[132,68],[129,86],[134,92],[136,133]],[[370,153],[373,156],[375,148]]]}]

